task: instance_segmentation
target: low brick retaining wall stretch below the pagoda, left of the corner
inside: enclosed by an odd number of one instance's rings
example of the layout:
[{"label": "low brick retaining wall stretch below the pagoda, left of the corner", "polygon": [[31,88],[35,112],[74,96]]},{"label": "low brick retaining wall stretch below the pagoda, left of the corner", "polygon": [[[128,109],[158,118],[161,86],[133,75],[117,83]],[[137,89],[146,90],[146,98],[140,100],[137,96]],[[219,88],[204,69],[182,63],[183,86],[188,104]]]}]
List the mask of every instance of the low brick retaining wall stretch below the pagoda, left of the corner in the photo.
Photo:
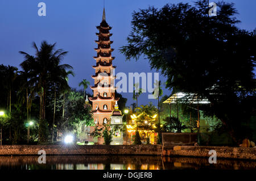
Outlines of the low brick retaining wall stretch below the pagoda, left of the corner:
[{"label": "low brick retaining wall stretch below the pagoda, left of the corner", "polygon": [[160,145],[2,145],[0,155],[35,155],[39,150],[47,155],[87,155],[87,154],[161,154]]}]

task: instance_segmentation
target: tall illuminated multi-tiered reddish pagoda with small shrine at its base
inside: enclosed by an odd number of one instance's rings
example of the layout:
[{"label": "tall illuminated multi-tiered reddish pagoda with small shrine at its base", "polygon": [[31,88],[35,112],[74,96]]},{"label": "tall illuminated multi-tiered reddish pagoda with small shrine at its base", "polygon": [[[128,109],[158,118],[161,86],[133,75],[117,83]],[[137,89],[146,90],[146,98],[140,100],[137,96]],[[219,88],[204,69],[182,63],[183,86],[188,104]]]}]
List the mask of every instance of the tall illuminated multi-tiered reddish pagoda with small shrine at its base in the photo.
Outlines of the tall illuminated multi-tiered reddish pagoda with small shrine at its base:
[{"label": "tall illuminated multi-tiered reddish pagoda with small shrine at its base", "polygon": [[[96,60],[96,65],[92,66],[95,69],[95,74],[92,75],[94,79],[94,85],[90,86],[93,90],[93,97],[89,98],[92,102],[93,119],[96,125],[103,126],[107,120],[112,120],[112,124],[122,125],[122,113],[118,110],[117,101],[119,98],[115,98],[115,86],[113,75],[112,57],[113,48],[110,41],[112,33],[109,31],[112,27],[106,22],[105,9],[103,10],[102,22],[100,26],[97,26],[98,40],[96,40],[97,48],[94,48],[97,52],[97,56],[93,57]],[[113,117],[114,116],[114,117]],[[118,119],[117,119],[118,118]],[[114,120],[113,120],[114,119]],[[115,121],[119,120],[117,123]],[[94,131],[94,127],[90,128],[90,132]],[[120,135],[119,135],[120,134]],[[114,137],[114,144],[122,144],[121,133],[117,133]],[[98,138],[98,144],[103,144],[104,139]]]}]

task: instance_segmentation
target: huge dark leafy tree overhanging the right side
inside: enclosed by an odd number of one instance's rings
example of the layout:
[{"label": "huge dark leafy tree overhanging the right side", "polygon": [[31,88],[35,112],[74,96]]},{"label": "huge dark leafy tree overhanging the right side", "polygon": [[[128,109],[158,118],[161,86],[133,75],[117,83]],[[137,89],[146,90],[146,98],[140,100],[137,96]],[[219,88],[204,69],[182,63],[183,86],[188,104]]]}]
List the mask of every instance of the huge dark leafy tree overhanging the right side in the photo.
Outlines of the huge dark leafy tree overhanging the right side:
[{"label": "huge dark leafy tree overhanging the right side", "polygon": [[212,17],[206,0],[134,12],[121,52],[127,60],[146,56],[167,77],[168,88],[207,98],[204,113],[216,115],[239,144],[249,136],[243,123],[255,108],[256,30],[236,27],[233,3],[217,6]]}]

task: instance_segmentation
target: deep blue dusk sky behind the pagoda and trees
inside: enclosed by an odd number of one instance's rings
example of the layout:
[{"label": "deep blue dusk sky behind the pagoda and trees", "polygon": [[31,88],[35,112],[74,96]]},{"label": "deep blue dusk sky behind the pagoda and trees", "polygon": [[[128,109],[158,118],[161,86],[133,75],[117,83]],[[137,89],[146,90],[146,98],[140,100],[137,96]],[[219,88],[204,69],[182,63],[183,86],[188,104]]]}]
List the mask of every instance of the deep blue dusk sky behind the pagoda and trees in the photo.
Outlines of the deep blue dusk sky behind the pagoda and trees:
[{"label": "deep blue dusk sky behind the pagoda and trees", "polygon": [[[32,41],[40,45],[42,40],[48,43],[57,42],[57,48],[68,50],[63,63],[73,66],[75,77],[70,77],[69,85],[78,87],[79,82],[86,78],[93,83],[90,75],[94,74],[91,65],[95,64],[92,58],[96,56],[93,48],[96,47],[94,40],[98,26],[102,19],[103,0],[1,0],[0,1],[0,64],[19,67],[23,61],[20,50],[34,54],[31,48]],[[47,15],[38,16],[38,3],[44,2],[47,6]],[[181,0],[105,0],[106,21],[112,26],[111,32],[114,41],[112,53],[115,56],[113,64],[119,71],[129,72],[152,72],[148,61],[141,58],[135,62],[126,62],[125,57],[118,52],[118,48],[125,45],[126,37],[131,30],[131,14],[135,10],[146,9],[148,6],[162,7],[166,3],[189,2]],[[210,1],[214,2],[214,1]],[[237,15],[241,23],[238,27],[246,30],[254,30],[256,27],[256,1],[255,0],[225,0],[234,2],[240,14]],[[162,82],[166,78],[160,76]],[[88,89],[88,91],[91,91]],[[164,95],[169,95],[170,90],[164,89]],[[148,99],[147,93],[139,97],[139,104],[147,104],[156,100]],[[132,93],[123,93],[128,98],[127,106],[134,102]]]}]

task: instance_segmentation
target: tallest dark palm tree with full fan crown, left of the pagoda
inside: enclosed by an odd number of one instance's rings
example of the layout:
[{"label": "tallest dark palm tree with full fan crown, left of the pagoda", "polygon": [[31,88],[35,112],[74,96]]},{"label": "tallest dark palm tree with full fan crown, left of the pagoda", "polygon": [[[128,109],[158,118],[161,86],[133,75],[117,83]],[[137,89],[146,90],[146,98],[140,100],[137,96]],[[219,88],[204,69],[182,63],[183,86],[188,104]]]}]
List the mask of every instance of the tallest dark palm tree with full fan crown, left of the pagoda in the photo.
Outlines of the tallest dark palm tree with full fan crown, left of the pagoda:
[{"label": "tallest dark palm tree with full fan crown, left of the pagoda", "polygon": [[[39,125],[40,123],[43,124],[43,121],[46,119],[46,89],[52,81],[57,67],[59,66],[63,70],[72,68],[68,64],[60,65],[63,57],[68,52],[63,52],[62,49],[55,50],[55,46],[56,43],[48,44],[46,41],[43,41],[39,50],[34,42],[32,47],[36,50],[35,56],[31,56],[26,52],[19,52],[25,58],[20,66],[28,69],[28,74],[30,75],[28,82],[35,87],[40,97]],[[43,135],[42,129],[39,127],[39,141],[41,141],[43,136],[46,138],[46,135]]]}]

